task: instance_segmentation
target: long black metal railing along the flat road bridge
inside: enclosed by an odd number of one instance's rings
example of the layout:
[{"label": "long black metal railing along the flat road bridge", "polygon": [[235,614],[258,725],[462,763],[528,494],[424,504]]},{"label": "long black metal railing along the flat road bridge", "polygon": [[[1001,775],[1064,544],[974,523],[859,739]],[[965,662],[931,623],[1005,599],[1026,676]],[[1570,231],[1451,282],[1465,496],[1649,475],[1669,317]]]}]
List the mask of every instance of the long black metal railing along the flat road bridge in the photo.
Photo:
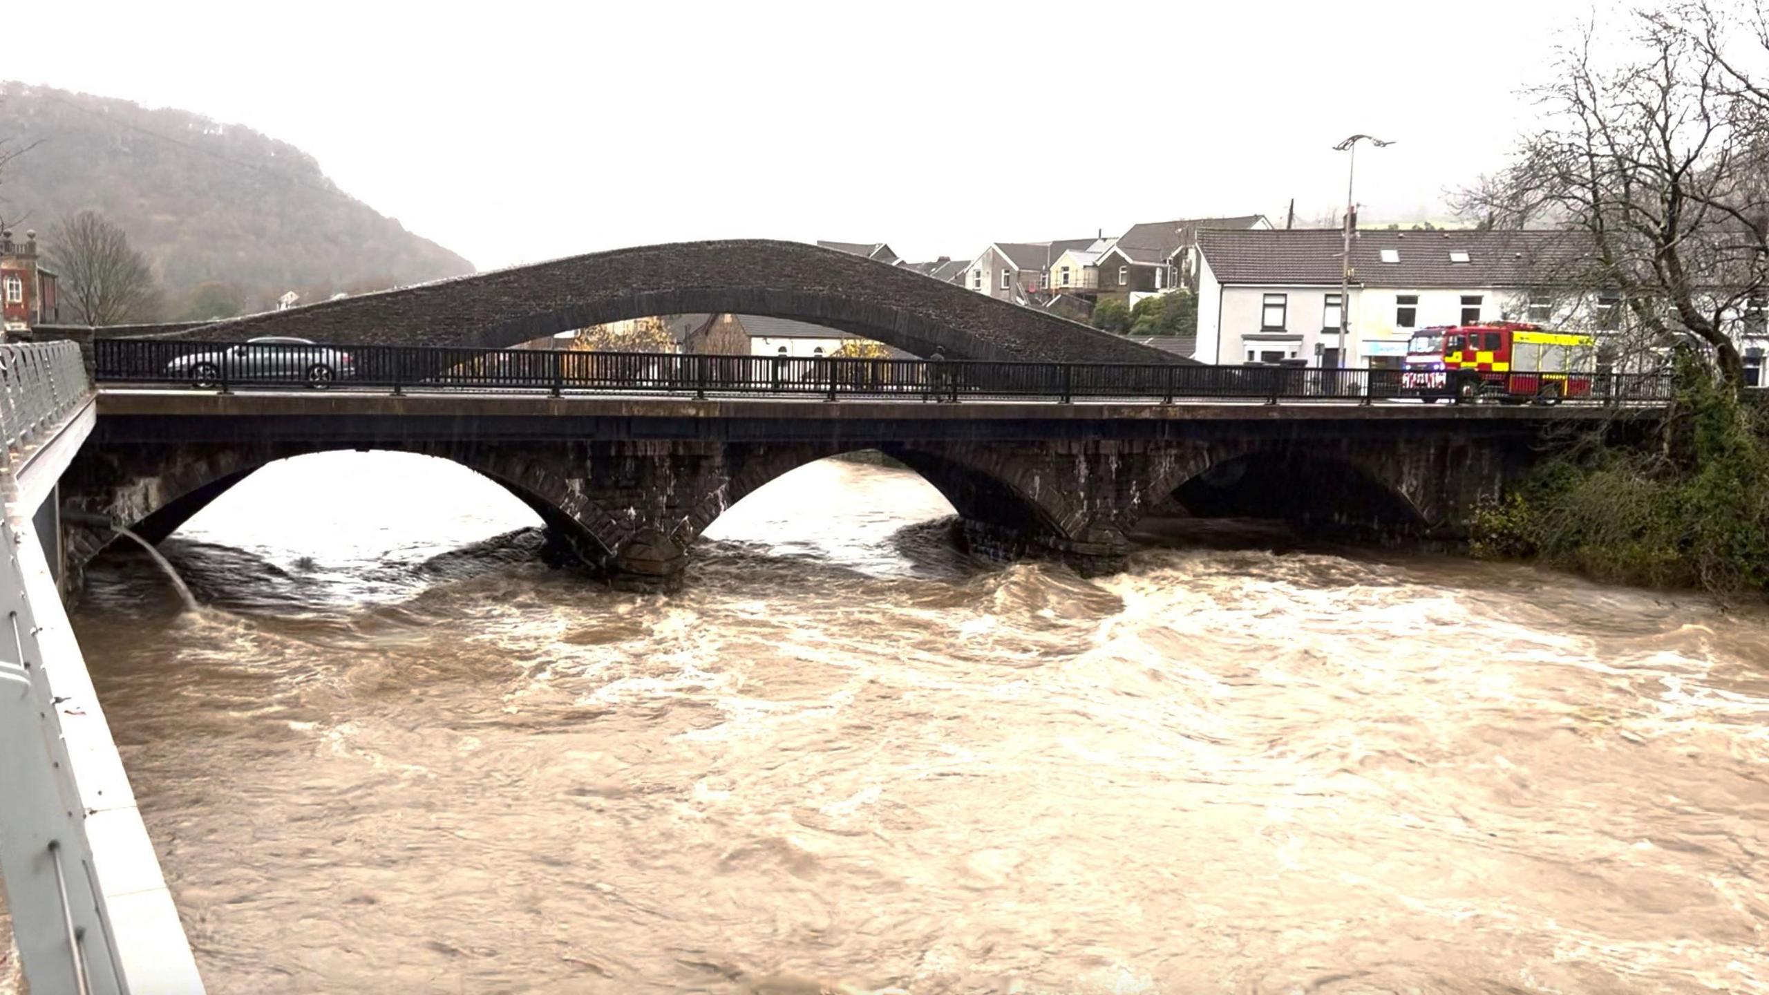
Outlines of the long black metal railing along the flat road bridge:
[{"label": "long black metal railing along the flat road bridge", "polygon": [[373,388],[479,393],[655,393],[692,397],[823,397],[897,400],[1337,400],[1431,397],[1650,404],[1670,397],[1658,374],[1504,374],[1475,391],[1419,391],[1403,370],[1293,365],[998,363],[311,345],[101,338],[96,375],[108,384],[189,384],[212,390]]}]

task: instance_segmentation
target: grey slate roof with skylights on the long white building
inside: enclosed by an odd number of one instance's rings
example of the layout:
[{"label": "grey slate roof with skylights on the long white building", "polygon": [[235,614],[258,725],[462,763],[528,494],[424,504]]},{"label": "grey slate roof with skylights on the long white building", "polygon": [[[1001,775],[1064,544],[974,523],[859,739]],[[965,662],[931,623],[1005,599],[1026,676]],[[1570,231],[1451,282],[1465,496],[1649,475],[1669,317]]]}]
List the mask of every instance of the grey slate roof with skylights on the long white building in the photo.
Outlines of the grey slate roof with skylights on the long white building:
[{"label": "grey slate roof with skylights on the long white building", "polygon": [[[1344,235],[1336,228],[1198,234],[1221,283],[1330,285],[1339,282]],[[1383,262],[1392,250],[1398,262]],[[1451,262],[1452,251],[1468,262]],[[1352,282],[1360,287],[1527,287],[1551,283],[1576,266],[1573,232],[1383,232],[1352,241]]]}]

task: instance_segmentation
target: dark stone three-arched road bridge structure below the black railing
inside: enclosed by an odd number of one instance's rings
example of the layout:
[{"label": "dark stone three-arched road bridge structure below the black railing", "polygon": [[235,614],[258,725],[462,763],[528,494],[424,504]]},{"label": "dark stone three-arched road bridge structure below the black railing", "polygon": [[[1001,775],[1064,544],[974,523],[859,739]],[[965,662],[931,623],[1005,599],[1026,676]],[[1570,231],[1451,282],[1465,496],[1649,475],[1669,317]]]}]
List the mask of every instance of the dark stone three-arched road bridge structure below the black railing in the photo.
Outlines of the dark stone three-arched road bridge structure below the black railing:
[{"label": "dark stone three-arched road bridge structure below the black railing", "polygon": [[[669,586],[695,538],[747,494],[817,459],[883,450],[939,489],[971,549],[1100,574],[1123,563],[1130,533],[1153,508],[1456,538],[1481,496],[1537,457],[1550,425],[1581,416],[106,391],[97,428],[62,480],[62,506],[76,522],[101,515],[157,542],[271,460],[423,453],[508,489],[547,524],[554,554],[623,586]],[[111,540],[94,524],[71,528],[74,567]]]}]

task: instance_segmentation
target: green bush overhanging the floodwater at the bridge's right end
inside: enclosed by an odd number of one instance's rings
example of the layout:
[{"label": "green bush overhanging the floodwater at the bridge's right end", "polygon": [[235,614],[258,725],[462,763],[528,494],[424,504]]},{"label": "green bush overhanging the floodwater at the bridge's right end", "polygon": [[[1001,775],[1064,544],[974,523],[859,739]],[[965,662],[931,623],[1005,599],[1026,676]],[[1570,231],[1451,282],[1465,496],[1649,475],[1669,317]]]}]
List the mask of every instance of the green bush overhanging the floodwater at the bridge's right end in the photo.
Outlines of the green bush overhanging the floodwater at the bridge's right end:
[{"label": "green bush overhanging the floodwater at the bridge's right end", "polygon": [[1587,439],[1470,522],[1482,558],[1603,581],[1769,591],[1769,436],[1737,391],[1688,359],[1649,446]]}]

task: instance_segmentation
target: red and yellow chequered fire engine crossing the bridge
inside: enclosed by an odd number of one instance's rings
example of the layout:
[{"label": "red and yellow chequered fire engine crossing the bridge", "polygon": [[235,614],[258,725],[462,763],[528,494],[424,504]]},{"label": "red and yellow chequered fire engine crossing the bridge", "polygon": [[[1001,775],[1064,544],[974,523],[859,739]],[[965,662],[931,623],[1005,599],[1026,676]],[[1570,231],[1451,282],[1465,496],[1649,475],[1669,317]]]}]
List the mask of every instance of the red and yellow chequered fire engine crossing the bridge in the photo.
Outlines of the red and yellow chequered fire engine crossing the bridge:
[{"label": "red and yellow chequered fire engine crossing the bridge", "polygon": [[1422,329],[1408,345],[1403,397],[1558,404],[1590,397],[1597,342],[1521,322]]}]

